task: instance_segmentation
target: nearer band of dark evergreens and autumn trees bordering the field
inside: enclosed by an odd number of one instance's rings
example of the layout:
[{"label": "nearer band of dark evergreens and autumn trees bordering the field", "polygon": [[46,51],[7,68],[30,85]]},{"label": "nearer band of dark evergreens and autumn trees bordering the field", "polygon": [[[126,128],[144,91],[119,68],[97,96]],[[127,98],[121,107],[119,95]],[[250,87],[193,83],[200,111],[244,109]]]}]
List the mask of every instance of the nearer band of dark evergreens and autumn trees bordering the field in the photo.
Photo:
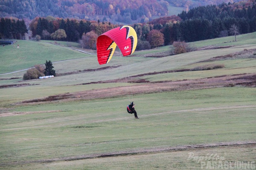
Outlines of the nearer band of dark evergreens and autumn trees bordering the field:
[{"label": "nearer band of dark evergreens and autumn trees bordering the field", "polygon": [[[23,25],[23,26],[18,26]],[[235,25],[238,33],[256,31],[255,1],[220,5],[199,6],[182,12],[178,16],[164,16],[147,23],[136,23],[131,26],[138,36],[137,50],[170,45],[174,41],[194,42],[232,35],[230,28]],[[41,39],[56,39],[51,36],[57,30],[65,31],[65,36],[59,40],[81,42],[94,41],[100,34],[120,25],[110,22],[89,21],[85,19],[63,19],[53,16],[36,17],[29,24],[32,36],[39,35]],[[27,30],[24,21],[1,18],[0,34],[2,38],[14,38]],[[18,36],[21,38],[21,36]],[[158,40],[158,41],[156,41]],[[95,45],[83,46],[94,49]]]}]

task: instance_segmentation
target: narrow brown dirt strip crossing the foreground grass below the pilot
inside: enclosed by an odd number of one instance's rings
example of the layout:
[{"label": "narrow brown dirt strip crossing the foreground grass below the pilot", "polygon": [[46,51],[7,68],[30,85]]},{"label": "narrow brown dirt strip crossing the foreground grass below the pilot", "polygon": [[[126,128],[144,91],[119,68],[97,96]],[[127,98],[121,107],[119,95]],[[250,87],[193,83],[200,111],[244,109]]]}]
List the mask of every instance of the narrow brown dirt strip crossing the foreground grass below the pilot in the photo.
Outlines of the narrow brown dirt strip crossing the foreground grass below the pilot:
[{"label": "narrow brown dirt strip crossing the foreground grass below the pilot", "polygon": [[242,146],[242,145],[248,145],[248,146],[251,145],[254,147],[256,145],[256,141],[220,142],[220,143],[212,143],[212,144],[196,144],[196,145],[170,146],[170,147],[162,147],[162,148],[136,149],[136,150],[131,150],[131,151],[120,151],[120,152],[111,152],[111,153],[102,153],[102,154],[71,156],[71,157],[52,158],[52,159],[41,159],[41,160],[35,160],[35,161],[0,163],[0,167],[8,166],[8,165],[51,163],[51,162],[73,161],[73,160],[112,157],[112,156],[129,156],[129,155],[135,155],[135,154],[173,152],[173,151],[177,151],[177,150],[192,150],[192,149],[195,150],[195,149],[201,149],[201,148],[212,148],[212,147],[220,147],[220,146]]}]

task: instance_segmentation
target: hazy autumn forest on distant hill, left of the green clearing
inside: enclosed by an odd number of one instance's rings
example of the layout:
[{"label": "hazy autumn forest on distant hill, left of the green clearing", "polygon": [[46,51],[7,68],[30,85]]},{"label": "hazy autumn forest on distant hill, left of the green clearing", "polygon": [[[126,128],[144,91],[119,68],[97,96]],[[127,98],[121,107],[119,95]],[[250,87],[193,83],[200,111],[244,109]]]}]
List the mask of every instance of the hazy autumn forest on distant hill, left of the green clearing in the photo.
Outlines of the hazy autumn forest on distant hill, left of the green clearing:
[{"label": "hazy autumn forest on distant hill, left of the green clearing", "polygon": [[33,19],[37,16],[90,19],[96,15],[129,23],[143,17],[168,14],[168,2],[158,0],[8,0],[0,1],[2,16]]}]

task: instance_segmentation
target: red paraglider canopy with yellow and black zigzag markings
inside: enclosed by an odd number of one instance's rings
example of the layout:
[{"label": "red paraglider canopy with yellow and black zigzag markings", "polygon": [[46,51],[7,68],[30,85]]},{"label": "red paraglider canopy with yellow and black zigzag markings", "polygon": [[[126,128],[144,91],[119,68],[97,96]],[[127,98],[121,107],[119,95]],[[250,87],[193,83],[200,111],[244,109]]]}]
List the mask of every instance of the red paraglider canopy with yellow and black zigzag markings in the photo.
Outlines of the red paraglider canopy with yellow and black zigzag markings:
[{"label": "red paraglider canopy with yellow and black zigzag markings", "polygon": [[97,56],[99,64],[108,63],[116,49],[121,50],[123,56],[131,55],[137,46],[137,34],[133,27],[124,25],[117,27],[97,38]]}]

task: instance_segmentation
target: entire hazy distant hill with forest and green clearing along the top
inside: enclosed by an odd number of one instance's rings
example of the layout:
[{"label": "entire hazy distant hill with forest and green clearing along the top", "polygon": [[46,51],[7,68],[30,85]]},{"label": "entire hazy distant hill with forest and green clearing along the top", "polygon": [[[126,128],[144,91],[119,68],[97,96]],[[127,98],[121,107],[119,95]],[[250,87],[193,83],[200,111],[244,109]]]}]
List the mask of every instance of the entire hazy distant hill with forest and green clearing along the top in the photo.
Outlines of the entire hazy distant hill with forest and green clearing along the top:
[{"label": "entire hazy distant hill with forest and green clearing along the top", "polygon": [[143,23],[161,16],[179,14],[200,5],[233,3],[239,0],[0,0],[0,17],[34,19],[59,17],[108,21],[111,23]]}]

